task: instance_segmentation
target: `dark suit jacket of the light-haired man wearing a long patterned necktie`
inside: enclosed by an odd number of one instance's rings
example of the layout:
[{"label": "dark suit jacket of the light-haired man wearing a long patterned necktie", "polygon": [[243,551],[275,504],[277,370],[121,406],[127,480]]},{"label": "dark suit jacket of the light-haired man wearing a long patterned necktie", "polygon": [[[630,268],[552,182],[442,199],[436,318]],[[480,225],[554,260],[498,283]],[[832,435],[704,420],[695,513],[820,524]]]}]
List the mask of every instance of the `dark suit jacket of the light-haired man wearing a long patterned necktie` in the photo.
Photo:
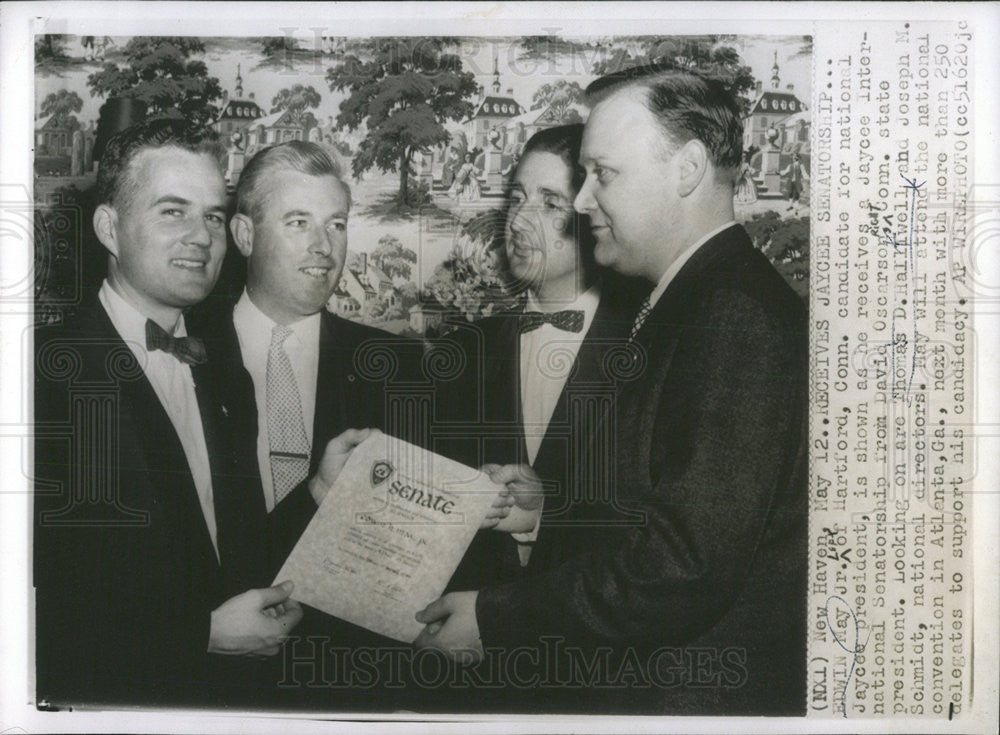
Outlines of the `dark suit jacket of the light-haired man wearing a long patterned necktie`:
[{"label": "dark suit jacket of the light-haired man wearing a long patterned necktie", "polygon": [[[243,372],[239,338],[232,320],[233,307],[229,300],[210,299],[196,309],[189,324],[193,325],[193,333],[205,338],[207,344],[215,345],[217,353],[226,355],[233,372]],[[422,344],[327,311],[321,313],[320,319],[309,476],[315,474],[330,439],[345,429],[371,427],[428,445],[432,386],[423,377]],[[253,416],[256,446],[258,419],[252,388],[244,395],[242,413]],[[256,452],[254,467],[257,467]],[[263,491],[259,493],[263,503]],[[269,514],[269,518],[281,514],[283,519],[276,524],[280,533],[274,532],[269,537],[272,546],[266,572],[268,584],[288,558],[315,511],[312,497],[300,493],[297,488]],[[343,682],[352,677],[370,681],[373,675],[370,667],[355,674],[351,661],[336,659],[344,655],[344,649],[367,648],[377,654],[388,647],[398,648],[397,641],[309,606],[304,609],[302,622],[279,657],[272,661],[272,682],[280,682],[280,687],[272,688],[271,694],[277,696],[271,700],[272,705],[355,711],[415,706],[381,686],[367,690],[345,688]],[[323,671],[336,682],[324,678]],[[382,685],[393,676],[392,672],[380,671],[374,675],[374,681]],[[398,679],[398,674],[395,678]],[[414,702],[419,701],[422,694],[415,692]]]}]

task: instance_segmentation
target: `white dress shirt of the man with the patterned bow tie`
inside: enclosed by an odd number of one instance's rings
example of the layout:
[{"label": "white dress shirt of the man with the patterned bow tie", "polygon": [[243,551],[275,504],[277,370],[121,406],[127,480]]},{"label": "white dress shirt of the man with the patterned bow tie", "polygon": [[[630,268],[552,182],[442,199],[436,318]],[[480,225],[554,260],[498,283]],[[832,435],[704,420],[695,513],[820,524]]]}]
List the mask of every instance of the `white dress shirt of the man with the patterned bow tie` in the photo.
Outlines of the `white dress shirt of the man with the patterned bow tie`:
[{"label": "white dress shirt of the man with the patterned bow tie", "polygon": [[[524,440],[528,446],[528,461],[531,464],[534,464],[535,458],[538,457],[538,450],[548,431],[552,413],[566,386],[566,379],[576,363],[580,345],[594,321],[600,300],[600,287],[596,285],[580,294],[572,303],[560,303],[555,308],[543,307],[535,299],[534,294],[528,292],[526,311],[583,312],[583,329],[579,332],[567,332],[551,324],[543,324],[521,335],[521,416]],[[540,521],[541,509],[535,519],[534,529],[525,533],[511,534],[518,542],[517,554],[521,566],[528,563],[531,555],[530,544],[538,537]]]}]

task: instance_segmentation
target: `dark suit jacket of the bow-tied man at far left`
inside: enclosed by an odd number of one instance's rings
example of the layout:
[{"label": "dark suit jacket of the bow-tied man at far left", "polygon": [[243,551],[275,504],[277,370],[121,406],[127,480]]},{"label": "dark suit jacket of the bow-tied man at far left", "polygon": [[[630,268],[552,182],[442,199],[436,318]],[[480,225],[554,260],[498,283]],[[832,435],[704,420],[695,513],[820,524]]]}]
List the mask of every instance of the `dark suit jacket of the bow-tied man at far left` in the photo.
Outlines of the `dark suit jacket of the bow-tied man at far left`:
[{"label": "dark suit jacket of the bow-tied man at far left", "polygon": [[262,555],[287,519],[265,519],[249,375],[222,363],[210,349],[192,368],[220,561],[177,433],[104,309],[36,331],[40,702],[231,702],[256,685],[247,659],[207,653],[210,615],[269,584]]}]

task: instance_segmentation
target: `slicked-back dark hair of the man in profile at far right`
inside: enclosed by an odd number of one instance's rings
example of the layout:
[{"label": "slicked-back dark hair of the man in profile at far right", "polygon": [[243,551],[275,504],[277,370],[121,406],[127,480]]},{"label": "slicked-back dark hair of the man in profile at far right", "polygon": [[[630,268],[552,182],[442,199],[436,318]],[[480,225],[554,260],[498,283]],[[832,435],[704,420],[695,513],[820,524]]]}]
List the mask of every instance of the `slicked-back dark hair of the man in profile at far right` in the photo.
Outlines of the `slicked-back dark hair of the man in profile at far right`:
[{"label": "slicked-back dark hair of the man in profile at far right", "polygon": [[742,112],[725,85],[662,66],[636,66],[591,82],[584,94],[593,106],[627,89],[645,92],[646,107],[672,148],[698,139],[716,170],[736,180],[743,160]]}]

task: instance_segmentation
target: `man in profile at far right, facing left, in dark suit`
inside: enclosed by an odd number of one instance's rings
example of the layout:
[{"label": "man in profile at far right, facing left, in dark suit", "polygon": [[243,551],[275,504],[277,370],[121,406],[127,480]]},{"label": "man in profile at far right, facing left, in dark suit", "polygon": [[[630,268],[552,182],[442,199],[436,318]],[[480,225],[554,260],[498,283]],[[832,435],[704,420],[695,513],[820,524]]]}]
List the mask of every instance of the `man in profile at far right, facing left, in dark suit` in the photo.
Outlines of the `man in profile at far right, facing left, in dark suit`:
[{"label": "man in profile at far right, facing left, in dark suit", "polygon": [[575,207],[598,263],[655,284],[610,412],[610,491],[642,521],[596,527],[543,574],[444,596],[418,615],[433,623],[418,643],[554,636],[596,662],[602,711],[802,714],[807,322],[732,221],[739,109],[721,85],[648,68],[588,96]]}]

